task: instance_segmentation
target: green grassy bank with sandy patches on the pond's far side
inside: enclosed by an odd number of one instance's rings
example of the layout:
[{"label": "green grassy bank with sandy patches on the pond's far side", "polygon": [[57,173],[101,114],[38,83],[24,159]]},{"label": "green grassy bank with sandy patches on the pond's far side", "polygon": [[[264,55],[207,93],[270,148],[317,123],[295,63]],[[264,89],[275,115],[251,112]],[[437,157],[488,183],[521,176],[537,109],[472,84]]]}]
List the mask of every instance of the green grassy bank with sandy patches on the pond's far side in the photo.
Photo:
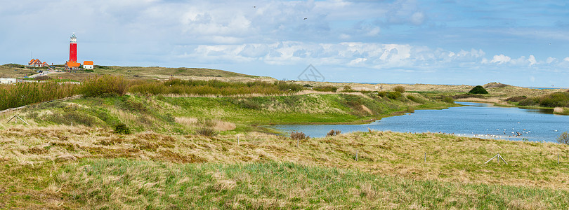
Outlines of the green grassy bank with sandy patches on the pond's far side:
[{"label": "green grassy bank with sandy patches on the pond's far side", "polygon": [[[410,97],[412,95],[414,97]],[[135,132],[195,134],[202,127],[198,121],[204,119],[218,122],[218,127],[228,127],[218,128],[220,132],[247,132],[264,130],[254,125],[369,123],[372,119],[413,109],[453,106],[419,94],[408,96],[416,102],[403,96],[388,99],[359,92],[263,97],[125,95],[37,104],[23,110],[21,116],[39,126],[73,124],[110,128],[124,123]]]}]

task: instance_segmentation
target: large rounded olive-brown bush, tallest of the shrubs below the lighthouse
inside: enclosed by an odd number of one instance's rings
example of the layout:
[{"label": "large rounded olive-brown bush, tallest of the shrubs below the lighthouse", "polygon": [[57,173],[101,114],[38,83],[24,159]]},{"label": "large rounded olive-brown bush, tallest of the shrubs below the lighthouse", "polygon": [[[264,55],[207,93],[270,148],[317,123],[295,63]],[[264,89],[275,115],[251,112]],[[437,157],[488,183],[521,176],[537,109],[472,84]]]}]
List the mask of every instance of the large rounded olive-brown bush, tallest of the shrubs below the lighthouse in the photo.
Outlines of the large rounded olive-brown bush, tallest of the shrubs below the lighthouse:
[{"label": "large rounded olive-brown bush, tallest of the shrubs below the lighthouse", "polygon": [[122,76],[94,76],[87,79],[81,87],[81,94],[86,97],[105,97],[125,93],[126,80]]}]

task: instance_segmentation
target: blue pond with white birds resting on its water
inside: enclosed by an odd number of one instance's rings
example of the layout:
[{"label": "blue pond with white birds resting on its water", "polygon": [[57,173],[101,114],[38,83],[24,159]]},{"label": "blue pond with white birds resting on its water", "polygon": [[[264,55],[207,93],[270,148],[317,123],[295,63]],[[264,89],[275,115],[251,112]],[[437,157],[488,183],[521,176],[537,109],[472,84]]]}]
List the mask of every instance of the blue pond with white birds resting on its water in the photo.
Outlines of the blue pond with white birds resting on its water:
[{"label": "blue pond with white birds resting on its water", "polygon": [[342,133],[367,131],[441,132],[460,137],[556,142],[569,131],[569,116],[552,114],[549,109],[520,109],[492,104],[457,102],[464,106],[441,110],[417,110],[364,125],[271,125],[281,132],[304,132],[325,137],[329,130]]}]

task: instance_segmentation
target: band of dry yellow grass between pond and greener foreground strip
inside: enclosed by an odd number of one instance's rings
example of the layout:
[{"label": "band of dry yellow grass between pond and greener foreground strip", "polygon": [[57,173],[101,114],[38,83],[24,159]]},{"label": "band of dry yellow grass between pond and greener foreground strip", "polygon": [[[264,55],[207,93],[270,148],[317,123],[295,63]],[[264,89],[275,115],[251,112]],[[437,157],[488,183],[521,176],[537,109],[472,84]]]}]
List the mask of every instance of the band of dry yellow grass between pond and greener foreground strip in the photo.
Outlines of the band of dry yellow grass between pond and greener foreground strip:
[{"label": "band of dry yellow grass between pond and greener foreground strip", "polygon": [[[357,168],[409,179],[569,189],[569,146],[553,143],[371,131],[305,139],[296,147],[296,141],[287,137],[256,132],[240,134],[237,144],[234,135],[170,137],[153,132],[117,135],[89,127],[2,126],[6,130],[0,131],[0,160],[16,165],[119,157],[169,162],[271,160]],[[219,126],[222,130],[231,127]],[[427,153],[426,163],[424,153]],[[484,164],[497,153],[509,165]],[[561,165],[554,164],[558,154]]]}]

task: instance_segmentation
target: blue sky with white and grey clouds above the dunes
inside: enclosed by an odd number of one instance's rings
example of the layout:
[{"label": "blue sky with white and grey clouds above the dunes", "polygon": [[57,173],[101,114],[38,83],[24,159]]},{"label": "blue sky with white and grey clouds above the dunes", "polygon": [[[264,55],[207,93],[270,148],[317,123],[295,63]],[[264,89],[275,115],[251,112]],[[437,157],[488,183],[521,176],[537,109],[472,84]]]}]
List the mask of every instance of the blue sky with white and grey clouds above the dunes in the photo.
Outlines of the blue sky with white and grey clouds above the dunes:
[{"label": "blue sky with white and grey clouds above the dunes", "polygon": [[569,87],[565,1],[0,0],[0,63],[204,67],[297,80]]}]

